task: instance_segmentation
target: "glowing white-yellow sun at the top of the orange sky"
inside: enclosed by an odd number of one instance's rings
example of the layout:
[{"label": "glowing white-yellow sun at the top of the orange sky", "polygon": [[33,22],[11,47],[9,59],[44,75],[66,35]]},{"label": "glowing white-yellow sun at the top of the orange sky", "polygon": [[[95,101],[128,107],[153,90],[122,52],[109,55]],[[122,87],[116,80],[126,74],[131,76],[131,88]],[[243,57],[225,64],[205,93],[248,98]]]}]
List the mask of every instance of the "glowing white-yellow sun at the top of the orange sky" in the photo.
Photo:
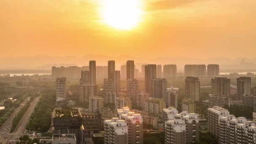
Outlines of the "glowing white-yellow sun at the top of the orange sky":
[{"label": "glowing white-yellow sun at the top of the orange sky", "polygon": [[140,0],[102,0],[100,15],[110,27],[130,30],[141,21]]}]

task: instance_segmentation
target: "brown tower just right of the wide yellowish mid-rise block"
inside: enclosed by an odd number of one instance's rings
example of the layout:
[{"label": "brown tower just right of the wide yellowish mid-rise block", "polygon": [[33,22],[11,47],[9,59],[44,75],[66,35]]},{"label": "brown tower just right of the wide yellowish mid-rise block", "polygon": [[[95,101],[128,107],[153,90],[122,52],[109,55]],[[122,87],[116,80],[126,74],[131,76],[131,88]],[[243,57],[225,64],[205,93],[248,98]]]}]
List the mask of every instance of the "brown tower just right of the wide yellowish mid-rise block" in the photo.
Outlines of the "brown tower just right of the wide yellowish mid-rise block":
[{"label": "brown tower just right of the wide yellowish mid-rise block", "polygon": [[164,101],[167,107],[178,107],[178,92],[173,90],[167,90],[164,92]]}]

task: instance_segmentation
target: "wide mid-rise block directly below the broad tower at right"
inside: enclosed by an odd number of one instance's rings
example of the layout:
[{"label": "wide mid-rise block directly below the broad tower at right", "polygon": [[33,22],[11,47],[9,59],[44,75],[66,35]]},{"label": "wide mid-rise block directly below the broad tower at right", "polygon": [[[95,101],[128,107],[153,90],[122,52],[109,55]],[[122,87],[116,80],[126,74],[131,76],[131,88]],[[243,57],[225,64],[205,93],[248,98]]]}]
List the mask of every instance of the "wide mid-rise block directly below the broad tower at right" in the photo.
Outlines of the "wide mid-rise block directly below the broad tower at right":
[{"label": "wide mid-rise block directly below the broad tower at right", "polygon": [[221,96],[221,95],[212,95],[209,94],[209,106],[219,106],[224,107],[225,105],[232,105],[232,97],[231,96]]}]

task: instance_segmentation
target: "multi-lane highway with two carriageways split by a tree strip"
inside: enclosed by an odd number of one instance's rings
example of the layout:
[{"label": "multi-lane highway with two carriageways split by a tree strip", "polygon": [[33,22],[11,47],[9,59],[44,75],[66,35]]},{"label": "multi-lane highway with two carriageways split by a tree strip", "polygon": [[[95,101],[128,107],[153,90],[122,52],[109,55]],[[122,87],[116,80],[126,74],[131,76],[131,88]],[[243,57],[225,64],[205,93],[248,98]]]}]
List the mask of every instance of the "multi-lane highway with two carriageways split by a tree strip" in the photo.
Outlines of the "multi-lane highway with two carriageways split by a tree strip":
[{"label": "multi-lane highway with two carriageways split by a tree strip", "polygon": [[[3,132],[3,134],[0,135],[0,143],[2,144],[8,144],[9,141],[17,140],[16,137],[24,135],[24,130],[26,128],[27,121],[29,120],[30,115],[34,111],[34,108],[37,104],[37,101],[39,101],[40,96],[37,96],[34,101],[31,102],[29,108],[27,109],[27,112],[22,117],[21,121],[17,125],[16,129],[10,133],[11,127],[12,127],[12,121],[13,118],[17,115],[17,113],[20,111],[21,107],[26,104],[26,102],[30,99],[27,98],[23,103],[21,103],[20,107],[18,107],[15,112],[13,112],[13,115],[0,127],[0,133]],[[6,130],[5,130],[6,129]],[[6,134],[5,134],[6,133]]]}]

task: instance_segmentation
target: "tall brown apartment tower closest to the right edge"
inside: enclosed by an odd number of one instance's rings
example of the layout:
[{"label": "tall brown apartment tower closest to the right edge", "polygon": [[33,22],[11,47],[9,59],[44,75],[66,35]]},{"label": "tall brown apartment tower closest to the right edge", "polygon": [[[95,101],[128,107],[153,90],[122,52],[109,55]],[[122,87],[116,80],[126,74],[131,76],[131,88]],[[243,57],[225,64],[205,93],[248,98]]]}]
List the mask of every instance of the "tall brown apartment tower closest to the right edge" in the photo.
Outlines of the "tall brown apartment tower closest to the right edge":
[{"label": "tall brown apartment tower closest to the right edge", "polygon": [[251,94],[251,77],[237,78],[237,99],[242,99],[243,94]]}]

